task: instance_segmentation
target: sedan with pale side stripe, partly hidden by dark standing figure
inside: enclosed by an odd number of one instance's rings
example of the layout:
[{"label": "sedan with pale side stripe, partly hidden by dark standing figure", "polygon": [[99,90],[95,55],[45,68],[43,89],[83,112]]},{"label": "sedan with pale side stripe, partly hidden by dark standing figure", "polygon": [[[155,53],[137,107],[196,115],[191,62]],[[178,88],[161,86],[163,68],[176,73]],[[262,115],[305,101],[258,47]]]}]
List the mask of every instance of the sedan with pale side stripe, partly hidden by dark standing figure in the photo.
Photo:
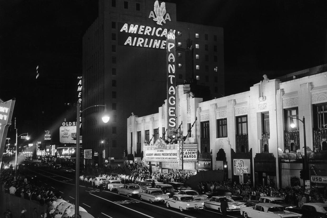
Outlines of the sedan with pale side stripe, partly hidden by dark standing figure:
[{"label": "sedan with pale side stripe, partly hidden by dark standing figure", "polygon": [[211,208],[220,211],[220,203],[226,201],[228,208],[227,211],[240,210],[242,207],[246,207],[244,202],[234,201],[230,196],[213,196],[210,199],[201,199],[204,202],[206,208]]}]

